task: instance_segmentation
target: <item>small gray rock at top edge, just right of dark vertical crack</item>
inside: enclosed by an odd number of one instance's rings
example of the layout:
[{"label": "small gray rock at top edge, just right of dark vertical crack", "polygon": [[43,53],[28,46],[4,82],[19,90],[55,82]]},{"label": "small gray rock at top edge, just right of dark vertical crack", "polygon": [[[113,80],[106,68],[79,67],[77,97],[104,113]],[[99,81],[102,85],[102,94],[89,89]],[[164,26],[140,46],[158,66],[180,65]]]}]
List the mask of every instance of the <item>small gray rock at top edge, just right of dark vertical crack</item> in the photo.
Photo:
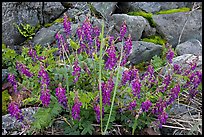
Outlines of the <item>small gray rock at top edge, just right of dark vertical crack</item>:
[{"label": "small gray rock at top edge, just right of dark vertical crack", "polygon": [[59,18],[64,13],[66,8],[62,6],[61,2],[44,2],[43,17],[44,23],[52,22]]}]

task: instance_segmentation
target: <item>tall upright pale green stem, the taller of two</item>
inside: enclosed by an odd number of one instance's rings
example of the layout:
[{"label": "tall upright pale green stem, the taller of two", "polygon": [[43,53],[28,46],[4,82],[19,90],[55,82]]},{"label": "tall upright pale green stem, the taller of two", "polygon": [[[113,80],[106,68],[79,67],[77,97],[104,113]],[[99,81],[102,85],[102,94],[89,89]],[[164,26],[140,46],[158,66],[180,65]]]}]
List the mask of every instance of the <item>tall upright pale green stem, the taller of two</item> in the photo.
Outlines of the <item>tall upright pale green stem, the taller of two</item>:
[{"label": "tall upright pale green stem, the taller of two", "polygon": [[104,46],[104,21],[102,22],[102,32],[101,32],[101,46],[100,46],[100,56],[99,56],[99,92],[100,92],[100,119],[101,119],[101,134],[103,135],[103,117],[102,117],[102,89],[101,89],[101,69],[102,69],[102,49]]}]

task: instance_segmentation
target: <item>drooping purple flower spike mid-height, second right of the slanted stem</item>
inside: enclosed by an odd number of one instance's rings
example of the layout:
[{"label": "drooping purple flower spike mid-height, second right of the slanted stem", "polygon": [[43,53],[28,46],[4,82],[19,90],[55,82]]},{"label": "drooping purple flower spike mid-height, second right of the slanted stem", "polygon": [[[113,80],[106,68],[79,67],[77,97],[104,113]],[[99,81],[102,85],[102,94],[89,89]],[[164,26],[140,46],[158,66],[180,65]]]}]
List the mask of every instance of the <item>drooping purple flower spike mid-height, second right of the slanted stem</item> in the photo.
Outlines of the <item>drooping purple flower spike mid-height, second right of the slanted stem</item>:
[{"label": "drooping purple flower spike mid-height, second right of the slanted stem", "polygon": [[131,82],[131,85],[132,85],[132,94],[134,96],[137,95],[138,98],[140,98],[140,90],[141,90],[141,84],[140,84],[140,81],[138,78],[134,79],[132,82]]}]

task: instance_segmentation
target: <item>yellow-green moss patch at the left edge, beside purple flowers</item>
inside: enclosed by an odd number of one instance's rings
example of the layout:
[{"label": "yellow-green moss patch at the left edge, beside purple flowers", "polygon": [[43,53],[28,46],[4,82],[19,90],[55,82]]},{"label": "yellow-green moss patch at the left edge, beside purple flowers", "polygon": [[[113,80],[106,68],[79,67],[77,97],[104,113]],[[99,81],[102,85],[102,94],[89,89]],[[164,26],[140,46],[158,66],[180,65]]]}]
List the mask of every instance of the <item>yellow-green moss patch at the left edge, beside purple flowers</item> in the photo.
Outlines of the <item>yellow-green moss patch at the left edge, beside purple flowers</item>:
[{"label": "yellow-green moss patch at the left edge, beside purple flowers", "polygon": [[2,92],[2,115],[7,114],[8,104],[10,102],[9,96],[8,90]]}]

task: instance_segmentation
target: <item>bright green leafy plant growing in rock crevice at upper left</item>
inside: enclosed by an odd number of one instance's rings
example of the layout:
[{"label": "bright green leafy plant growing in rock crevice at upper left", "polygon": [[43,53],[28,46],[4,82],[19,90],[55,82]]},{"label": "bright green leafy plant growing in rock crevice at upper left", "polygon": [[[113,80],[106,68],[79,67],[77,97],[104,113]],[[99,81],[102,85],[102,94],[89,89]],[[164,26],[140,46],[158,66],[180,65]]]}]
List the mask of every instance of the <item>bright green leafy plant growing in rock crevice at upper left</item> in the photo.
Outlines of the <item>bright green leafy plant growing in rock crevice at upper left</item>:
[{"label": "bright green leafy plant growing in rock crevice at upper left", "polygon": [[37,26],[31,26],[30,24],[20,24],[21,27],[19,27],[17,24],[15,24],[15,27],[18,29],[21,35],[23,35],[25,38],[32,39],[35,35],[35,32],[40,28],[40,25]]}]

